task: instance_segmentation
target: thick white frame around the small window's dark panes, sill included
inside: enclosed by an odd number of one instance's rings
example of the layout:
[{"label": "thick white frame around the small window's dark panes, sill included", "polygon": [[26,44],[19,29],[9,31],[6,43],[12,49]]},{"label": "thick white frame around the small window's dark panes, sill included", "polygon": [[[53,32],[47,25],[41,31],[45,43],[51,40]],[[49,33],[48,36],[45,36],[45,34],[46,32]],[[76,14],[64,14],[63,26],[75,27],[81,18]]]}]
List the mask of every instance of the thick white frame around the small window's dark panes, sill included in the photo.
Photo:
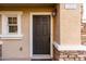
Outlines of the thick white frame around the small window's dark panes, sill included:
[{"label": "thick white frame around the small window's dark panes, sill included", "polygon": [[[2,11],[0,12],[2,16],[2,35],[0,37],[2,39],[22,39],[22,26],[21,26],[21,18],[22,12],[21,11]],[[8,17],[17,17],[17,34],[9,34],[8,28]]]}]

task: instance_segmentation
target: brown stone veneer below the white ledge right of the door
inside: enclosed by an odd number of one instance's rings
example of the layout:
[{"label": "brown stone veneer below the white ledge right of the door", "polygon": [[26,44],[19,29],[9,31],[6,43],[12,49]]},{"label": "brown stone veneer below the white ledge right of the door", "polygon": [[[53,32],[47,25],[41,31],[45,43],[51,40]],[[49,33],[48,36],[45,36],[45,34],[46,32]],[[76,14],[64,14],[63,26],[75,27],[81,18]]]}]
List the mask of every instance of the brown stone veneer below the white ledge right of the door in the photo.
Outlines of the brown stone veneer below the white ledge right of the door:
[{"label": "brown stone veneer below the white ledge right of the door", "polygon": [[58,51],[53,49],[54,61],[85,61],[86,51]]}]

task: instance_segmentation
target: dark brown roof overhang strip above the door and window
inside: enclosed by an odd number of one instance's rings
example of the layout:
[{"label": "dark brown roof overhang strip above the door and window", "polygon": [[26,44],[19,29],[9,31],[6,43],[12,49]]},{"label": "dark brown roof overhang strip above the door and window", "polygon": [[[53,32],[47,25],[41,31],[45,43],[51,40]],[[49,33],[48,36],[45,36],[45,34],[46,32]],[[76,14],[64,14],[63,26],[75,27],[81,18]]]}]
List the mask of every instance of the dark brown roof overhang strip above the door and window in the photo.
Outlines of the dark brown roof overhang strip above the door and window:
[{"label": "dark brown roof overhang strip above the door and window", "polygon": [[56,3],[0,3],[0,7],[54,7]]}]

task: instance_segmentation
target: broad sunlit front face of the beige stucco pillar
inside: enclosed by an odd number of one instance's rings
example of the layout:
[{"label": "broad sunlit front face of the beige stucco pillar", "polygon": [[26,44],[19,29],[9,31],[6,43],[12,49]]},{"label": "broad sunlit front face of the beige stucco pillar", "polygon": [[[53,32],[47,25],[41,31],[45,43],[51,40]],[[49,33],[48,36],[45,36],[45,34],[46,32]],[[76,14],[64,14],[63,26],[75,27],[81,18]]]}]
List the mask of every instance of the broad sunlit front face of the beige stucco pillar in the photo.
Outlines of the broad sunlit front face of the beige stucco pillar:
[{"label": "broad sunlit front face of the beige stucco pillar", "polygon": [[60,4],[60,43],[81,44],[81,4],[74,10]]}]

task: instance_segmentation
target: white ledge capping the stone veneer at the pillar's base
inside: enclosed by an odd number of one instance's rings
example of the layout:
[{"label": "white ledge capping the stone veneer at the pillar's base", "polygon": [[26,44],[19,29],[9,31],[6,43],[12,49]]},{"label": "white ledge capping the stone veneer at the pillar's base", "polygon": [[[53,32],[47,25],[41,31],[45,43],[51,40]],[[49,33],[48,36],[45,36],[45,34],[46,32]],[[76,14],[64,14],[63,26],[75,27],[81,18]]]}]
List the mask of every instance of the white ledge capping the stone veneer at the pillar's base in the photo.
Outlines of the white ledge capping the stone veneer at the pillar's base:
[{"label": "white ledge capping the stone veneer at the pillar's base", "polygon": [[54,42],[53,43],[54,48],[59,51],[71,51],[71,50],[78,50],[78,51],[86,51],[86,46],[82,46],[82,44],[77,44],[77,46],[72,46],[72,44],[65,44],[65,46],[61,46],[61,44],[58,44],[58,42]]}]

